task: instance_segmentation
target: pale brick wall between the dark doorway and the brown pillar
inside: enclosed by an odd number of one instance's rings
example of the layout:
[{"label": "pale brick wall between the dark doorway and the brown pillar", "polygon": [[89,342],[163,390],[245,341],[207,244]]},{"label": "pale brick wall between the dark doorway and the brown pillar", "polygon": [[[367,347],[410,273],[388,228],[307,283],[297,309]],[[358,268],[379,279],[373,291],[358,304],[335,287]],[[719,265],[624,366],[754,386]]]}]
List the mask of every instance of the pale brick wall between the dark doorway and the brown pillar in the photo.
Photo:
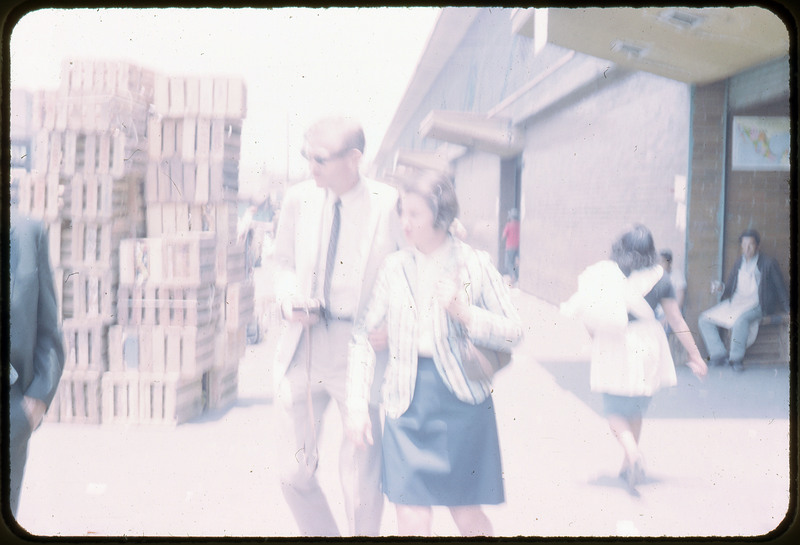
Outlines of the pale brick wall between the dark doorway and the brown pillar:
[{"label": "pale brick wall between the dark doorway and the brown pillar", "polygon": [[580,95],[526,127],[520,287],[552,303],[634,222],[684,262],[674,187],[688,175],[689,87],[634,73]]}]

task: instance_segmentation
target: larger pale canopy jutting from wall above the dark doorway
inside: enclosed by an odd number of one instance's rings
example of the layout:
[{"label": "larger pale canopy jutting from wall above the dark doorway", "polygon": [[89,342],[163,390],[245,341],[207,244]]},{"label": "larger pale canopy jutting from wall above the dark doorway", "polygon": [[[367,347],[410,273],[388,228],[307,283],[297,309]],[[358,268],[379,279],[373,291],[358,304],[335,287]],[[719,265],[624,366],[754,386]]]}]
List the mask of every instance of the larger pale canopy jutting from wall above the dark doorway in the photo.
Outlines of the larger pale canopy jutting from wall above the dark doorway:
[{"label": "larger pale canopy jutting from wall above the dark doorway", "polygon": [[420,124],[420,134],[501,157],[522,151],[522,131],[509,119],[486,114],[433,110]]}]

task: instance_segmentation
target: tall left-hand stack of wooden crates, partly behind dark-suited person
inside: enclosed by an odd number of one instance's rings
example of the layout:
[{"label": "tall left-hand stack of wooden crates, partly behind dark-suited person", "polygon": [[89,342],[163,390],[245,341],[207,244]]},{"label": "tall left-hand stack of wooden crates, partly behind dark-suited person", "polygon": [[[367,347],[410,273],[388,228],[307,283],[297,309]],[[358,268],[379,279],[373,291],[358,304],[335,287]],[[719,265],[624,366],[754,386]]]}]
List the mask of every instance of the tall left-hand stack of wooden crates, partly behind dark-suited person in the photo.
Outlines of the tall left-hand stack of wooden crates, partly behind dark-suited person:
[{"label": "tall left-hand stack of wooden crates, partly behind dark-suited person", "polygon": [[144,231],[142,185],[153,73],[123,62],[64,62],[61,86],[32,100],[22,212],[45,220],[66,362],[48,420],[97,423],[115,320],[119,244]]}]

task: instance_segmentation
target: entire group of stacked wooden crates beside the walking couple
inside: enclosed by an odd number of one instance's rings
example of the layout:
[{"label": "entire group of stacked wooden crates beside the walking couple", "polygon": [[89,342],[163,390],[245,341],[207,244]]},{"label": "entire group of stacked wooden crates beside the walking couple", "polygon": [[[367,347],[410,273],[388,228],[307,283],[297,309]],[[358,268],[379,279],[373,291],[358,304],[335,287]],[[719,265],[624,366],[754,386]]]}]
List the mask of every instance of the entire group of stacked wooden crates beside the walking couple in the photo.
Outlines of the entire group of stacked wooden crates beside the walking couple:
[{"label": "entire group of stacked wooden crates beside the walking couple", "polygon": [[235,399],[245,100],[238,79],[90,60],[36,93],[32,168],[14,179],[48,226],[64,332],[49,421],[176,424]]}]

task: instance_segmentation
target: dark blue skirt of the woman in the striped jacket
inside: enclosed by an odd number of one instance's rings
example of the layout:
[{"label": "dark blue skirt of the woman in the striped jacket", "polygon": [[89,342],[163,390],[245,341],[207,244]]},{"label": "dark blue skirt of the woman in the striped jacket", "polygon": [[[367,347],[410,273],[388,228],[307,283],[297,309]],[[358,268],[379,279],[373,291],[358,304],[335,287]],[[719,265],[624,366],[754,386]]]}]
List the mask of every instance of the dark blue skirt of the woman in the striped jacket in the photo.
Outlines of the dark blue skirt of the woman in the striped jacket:
[{"label": "dark blue skirt of the woman in the striped jacket", "polygon": [[431,358],[420,358],[411,406],[386,418],[383,490],[404,505],[487,505],[505,501],[491,396],[460,401]]}]

